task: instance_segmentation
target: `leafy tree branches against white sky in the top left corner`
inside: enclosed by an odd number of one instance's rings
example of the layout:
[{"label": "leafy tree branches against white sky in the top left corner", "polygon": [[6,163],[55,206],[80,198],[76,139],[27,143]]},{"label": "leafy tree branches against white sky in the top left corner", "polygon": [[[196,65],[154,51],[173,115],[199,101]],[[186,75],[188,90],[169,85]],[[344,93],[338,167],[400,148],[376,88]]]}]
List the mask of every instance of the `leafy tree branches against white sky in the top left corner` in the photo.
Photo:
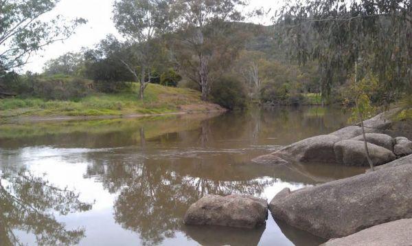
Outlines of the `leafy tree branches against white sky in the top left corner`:
[{"label": "leafy tree branches against white sky in the top left corner", "polygon": [[69,38],[84,19],[67,22],[62,16],[42,21],[41,16],[59,0],[0,0],[0,74],[25,65],[33,52]]}]

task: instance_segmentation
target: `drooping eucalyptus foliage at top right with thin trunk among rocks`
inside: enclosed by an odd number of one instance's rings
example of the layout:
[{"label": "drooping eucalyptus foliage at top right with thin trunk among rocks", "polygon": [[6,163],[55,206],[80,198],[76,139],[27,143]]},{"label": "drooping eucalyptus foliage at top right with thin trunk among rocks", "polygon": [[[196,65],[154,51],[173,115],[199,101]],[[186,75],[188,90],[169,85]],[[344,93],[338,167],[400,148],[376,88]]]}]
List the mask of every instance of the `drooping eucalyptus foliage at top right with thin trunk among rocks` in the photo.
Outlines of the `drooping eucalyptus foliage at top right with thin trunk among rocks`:
[{"label": "drooping eucalyptus foliage at top right with thin trunk among rocks", "polygon": [[[381,102],[387,104],[397,92],[412,88],[410,0],[287,1],[277,24],[283,27],[281,37],[290,43],[294,58],[300,63],[319,60],[326,95],[333,86],[334,74],[341,69],[355,74],[355,84],[367,74],[375,74],[385,91]],[[356,100],[363,126],[359,103],[361,100]],[[365,131],[363,135],[368,153]],[[368,161],[373,168],[369,157]]]}]

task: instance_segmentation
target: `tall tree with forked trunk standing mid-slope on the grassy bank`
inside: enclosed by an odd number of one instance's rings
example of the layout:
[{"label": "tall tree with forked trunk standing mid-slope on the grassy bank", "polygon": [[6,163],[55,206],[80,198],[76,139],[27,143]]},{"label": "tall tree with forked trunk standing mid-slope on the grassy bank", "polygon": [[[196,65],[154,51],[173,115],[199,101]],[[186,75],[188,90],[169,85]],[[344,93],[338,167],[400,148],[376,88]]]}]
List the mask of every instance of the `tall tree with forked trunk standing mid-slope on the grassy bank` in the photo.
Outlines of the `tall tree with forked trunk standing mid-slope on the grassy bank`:
[{"label": "tall tree with forked trunk standing mid-slope on the grassy bank", "polygon": [[[113,21],[127,39],[130,53],[120,58],[124,66],[140,80],[139,98],[152,80],[152,66],[159,52],[159,38],[170,25],[170,4],[166,0],[117,0]],[[140,74],[136,67],[139,65]]]}]

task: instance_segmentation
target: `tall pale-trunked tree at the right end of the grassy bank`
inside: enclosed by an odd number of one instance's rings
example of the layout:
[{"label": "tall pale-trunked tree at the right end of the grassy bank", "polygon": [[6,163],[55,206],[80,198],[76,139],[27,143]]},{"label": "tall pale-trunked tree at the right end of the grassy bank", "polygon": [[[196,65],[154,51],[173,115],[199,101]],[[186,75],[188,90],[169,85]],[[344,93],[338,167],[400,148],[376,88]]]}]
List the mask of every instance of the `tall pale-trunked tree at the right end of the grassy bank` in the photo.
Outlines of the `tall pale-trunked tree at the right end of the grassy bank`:
[{"label": "tall pale-trunked tree at the right end of the grassy bank", "polygon": [[244,20],[239,11],[244,4],[242,0],[178,0],[173,4],[178,30],[172,52],[183,76],[198,84],[204,101],[211,84],[244,47],[246,38],[240,36],[244,26],[236,23]]}]

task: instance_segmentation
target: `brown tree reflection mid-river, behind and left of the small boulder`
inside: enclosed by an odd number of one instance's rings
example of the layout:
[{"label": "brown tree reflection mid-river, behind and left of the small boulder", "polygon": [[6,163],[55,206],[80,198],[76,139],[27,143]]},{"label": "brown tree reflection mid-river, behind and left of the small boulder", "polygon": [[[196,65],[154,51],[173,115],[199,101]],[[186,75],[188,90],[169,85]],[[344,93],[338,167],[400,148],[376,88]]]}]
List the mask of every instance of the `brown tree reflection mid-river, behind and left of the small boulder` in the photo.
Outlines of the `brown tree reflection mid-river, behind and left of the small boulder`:
[{"label": "brown tree reflection mid-river, behind and left of the small boulder", "polygon": [[176,168],[152,159],[138,161],[95,161],[87,175],[100,174],[106,189],[119,192],[115,221],[137,232],[145,245],[158,245],[183,230],[187,208],[205,194],[261,194],[275,181],[218,181],[199,177],[200,172],[208,172],[198,169],[201,164]]}]

